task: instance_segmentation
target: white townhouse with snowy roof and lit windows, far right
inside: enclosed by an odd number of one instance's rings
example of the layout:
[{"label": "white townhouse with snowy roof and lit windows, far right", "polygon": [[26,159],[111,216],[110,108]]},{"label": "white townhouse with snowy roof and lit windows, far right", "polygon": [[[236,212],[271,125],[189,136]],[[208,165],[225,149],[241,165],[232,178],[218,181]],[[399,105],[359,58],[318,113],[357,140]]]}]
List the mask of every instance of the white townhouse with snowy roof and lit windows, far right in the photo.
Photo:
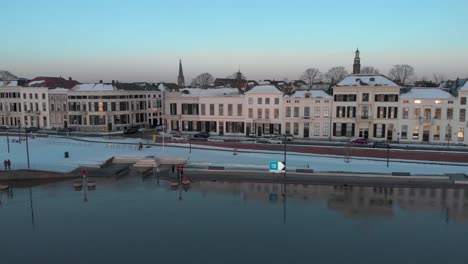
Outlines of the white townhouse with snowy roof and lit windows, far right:
[{"label": "white townhouse with snowy roof and lit windows, far right", "polygon": [[[439,88],[403,89],[397,140],[414,143],[463,142],[464,127],[460,126],[459,120],[465,117],[457,113],[456,102],[456,97]],[[454,137],[458,136],[454,132],[460,132],[460,138]]]}]

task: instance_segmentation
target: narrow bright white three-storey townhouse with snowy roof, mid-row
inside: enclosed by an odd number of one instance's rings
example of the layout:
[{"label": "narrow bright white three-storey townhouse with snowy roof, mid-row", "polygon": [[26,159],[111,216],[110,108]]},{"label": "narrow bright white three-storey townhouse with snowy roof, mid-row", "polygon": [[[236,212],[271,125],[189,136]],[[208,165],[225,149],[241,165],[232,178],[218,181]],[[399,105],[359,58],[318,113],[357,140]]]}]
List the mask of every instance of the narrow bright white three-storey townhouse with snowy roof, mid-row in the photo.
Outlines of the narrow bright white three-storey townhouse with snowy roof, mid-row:
[{"label": "narrow bright white three-storey townhouse with snowy roof, mid-row", "polygon": [[283,92],[273,85],[258,85],[245,92],[246,135],[284,134]]}]

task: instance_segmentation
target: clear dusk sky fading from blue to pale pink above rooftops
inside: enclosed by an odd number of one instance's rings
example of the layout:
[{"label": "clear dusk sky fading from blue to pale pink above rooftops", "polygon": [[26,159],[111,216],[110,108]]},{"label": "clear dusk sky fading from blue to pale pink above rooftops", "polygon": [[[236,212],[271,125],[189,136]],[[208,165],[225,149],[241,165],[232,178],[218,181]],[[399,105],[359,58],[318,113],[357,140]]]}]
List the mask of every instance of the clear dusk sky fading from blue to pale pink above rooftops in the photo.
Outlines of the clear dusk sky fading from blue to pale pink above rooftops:
[{"label": "clear dusk sky fading from blue to pale pink above rooftops", "polygon": [[468,1],[2,1],[0,70],[80,82],[297,79],[309,67],[468,77]]}]

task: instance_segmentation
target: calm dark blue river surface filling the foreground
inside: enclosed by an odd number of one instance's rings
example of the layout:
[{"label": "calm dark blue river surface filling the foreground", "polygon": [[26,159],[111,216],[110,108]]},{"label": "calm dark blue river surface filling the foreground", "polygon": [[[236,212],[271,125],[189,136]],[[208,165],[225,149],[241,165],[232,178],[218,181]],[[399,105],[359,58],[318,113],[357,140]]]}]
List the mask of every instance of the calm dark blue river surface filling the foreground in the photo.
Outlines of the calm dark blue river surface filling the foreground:
[{"label": "calm dark blue river surface filling the foreground", "polygon": [[[0,193],[1,263],[467,263],[468,190],[98,179]],[[86,202],[85,202],[86,200]]]}]

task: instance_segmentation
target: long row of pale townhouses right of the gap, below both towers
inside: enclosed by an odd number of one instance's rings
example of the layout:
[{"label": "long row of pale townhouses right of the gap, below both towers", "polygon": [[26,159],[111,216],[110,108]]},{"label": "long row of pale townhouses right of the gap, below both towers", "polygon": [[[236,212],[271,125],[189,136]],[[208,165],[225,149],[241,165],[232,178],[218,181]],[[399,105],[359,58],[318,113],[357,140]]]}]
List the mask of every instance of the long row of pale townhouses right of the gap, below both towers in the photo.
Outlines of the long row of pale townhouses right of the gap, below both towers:
[{"label": "long row of pale townhouses right of the gap, below both towers", "polygon": [[246,92],[185,88],[164,97],[169,132],[468,143],[468,84],[454,97],[439,88],[402,89],[382,75],[349,75],[333,87],[333,96],[322,90],[284,94],[260,85]]}]

